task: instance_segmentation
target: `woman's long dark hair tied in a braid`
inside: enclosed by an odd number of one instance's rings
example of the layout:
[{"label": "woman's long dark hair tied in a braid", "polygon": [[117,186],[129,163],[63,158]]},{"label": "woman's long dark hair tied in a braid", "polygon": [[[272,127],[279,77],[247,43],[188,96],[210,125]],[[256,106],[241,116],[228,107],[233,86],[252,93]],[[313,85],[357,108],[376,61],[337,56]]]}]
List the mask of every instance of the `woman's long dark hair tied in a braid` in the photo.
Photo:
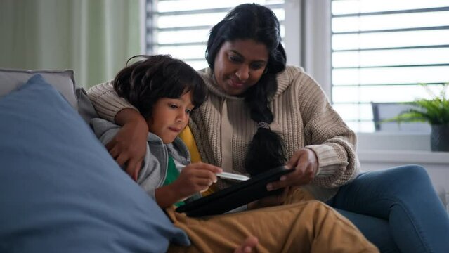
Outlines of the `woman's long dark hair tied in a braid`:
[{"label": "woman's long dark hair tied in a braid", "polygon": [[[241,4],[221,22],[212,27],[207,41],[206,60],[214,71],[214,61],[225,41],[252,39],[268,49],[266,72],[256,85],[245,94],[251,118],[257,122],[270,124],[273,112],[268,107],[269,100],[278,89],[276,74],[285,70],[286,55],[280,43],[280,27],[273,11],[259,4]],[[285,143],[282,137],[271,129],[258,128],[249,145],[245,167],[250,174],[258,174],[285,164]]]}]

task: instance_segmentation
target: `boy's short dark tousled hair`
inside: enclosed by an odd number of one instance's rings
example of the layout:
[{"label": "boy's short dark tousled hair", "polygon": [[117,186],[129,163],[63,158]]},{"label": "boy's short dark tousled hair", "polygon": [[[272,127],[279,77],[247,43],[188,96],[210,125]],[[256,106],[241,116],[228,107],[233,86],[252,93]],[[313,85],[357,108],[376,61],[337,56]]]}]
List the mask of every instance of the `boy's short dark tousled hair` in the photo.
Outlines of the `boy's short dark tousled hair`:
[{"label": "boy's short dark tousled hair", "polygon": [[[130,60],[142,58],[128,65]],[[192,103],[198,108],[207,96],[206,84],[193,67],[169,55],[133,56],[114,79],[117,94],[134,105],[145,118],[160,98],[179,98],[192,92]]]}]

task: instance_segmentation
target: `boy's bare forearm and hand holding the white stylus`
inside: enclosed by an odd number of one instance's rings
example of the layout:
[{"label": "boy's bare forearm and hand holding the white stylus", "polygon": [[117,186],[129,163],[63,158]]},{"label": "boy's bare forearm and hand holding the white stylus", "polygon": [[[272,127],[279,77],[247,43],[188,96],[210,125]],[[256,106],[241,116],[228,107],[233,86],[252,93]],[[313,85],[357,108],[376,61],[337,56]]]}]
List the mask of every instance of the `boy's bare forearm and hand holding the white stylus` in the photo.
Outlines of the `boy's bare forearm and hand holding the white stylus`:
[{"label": "boy's bare forearm and hand holding the white stylus", "polygon": [[173,183],[155,190],[157,205],[166,208],[195,193],[207,190],[216,182],[215,174],[220,172],[222,170],[212,164],[202,162],[188,164]]}]

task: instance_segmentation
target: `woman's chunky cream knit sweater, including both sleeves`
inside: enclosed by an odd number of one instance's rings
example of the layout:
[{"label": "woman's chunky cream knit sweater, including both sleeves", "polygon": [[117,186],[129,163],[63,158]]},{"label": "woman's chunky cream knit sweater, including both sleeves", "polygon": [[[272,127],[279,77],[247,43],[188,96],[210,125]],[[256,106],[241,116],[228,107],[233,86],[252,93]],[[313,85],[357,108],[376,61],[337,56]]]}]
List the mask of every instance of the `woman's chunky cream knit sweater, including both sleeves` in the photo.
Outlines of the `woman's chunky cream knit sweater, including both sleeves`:
[{"label": "woman's chunky cream knit sweater, including both sleeves", "polygon": [[[209,68],[200,74],[209,98],[193,113],[189,126],[202,161],[224,171],[247,174],[243,164],[256,123],[249,117],[243,98],[224,93]],[[301,68],[289,66],[277,80],[278,90],[270,103],[274,115],[271,129],[282,134],[289,157],[300,148],[315,152],[318,173],[304,188],[318,200],[328,200],[360,171],[356,135],[332,109],[320,86]],[[100,117],[112,122],[119,110],[133,108],[117,96],[111,82],[93,86],[87,93]],[[220,180],[218,186],[223,188],[228,183]]]}]

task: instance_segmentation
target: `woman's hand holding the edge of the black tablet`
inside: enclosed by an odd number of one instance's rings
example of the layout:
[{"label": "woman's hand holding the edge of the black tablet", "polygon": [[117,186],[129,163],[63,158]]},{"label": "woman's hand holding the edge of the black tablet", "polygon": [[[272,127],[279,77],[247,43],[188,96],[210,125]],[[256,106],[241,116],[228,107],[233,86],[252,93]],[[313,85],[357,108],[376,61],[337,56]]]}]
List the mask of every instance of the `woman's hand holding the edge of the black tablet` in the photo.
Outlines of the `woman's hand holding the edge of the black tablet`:
[{"label": "woman's hand holding the edge of the black tablet", "polygon": [[286,167],[295,168],[295,170],[281,176],[279,181],[268,183],[267,190],[277,190],[287,186],[304,186],[310,183],[318,170],[318,158],[313,150],[301,148],[293,154]]}]

